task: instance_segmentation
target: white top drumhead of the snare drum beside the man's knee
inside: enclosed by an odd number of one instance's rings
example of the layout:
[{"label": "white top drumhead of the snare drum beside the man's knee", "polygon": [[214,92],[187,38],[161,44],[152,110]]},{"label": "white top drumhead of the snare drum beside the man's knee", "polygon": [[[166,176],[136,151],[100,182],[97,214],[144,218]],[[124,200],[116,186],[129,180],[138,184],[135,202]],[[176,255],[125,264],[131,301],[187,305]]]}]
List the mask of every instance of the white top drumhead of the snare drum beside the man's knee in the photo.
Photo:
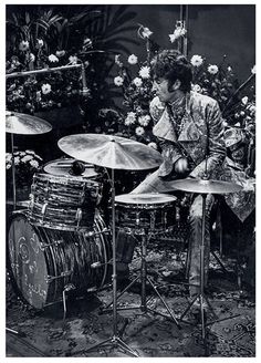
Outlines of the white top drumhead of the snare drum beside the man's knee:
[{"label": "white top drumhead of the snare drum beside the man's knee", "polygon": [[123,194],[115,197],[116,203],[127,204],[127,205],[155,205],[161,203],[169,203],[177,200],[177,197],[169,196],[166,194]]}]

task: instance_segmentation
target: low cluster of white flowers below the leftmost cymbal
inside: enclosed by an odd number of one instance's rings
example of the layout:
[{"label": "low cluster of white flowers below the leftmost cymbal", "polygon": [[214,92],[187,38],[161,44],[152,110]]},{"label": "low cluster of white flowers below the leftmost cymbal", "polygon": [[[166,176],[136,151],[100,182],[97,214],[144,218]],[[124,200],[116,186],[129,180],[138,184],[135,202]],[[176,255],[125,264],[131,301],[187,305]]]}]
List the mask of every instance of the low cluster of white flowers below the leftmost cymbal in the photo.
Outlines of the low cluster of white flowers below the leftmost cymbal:
[{"label": "low cluster of white flowers below the leftmost cymbal", "polygon": [[14,152],[13,156],[10,153],[6,154],[6,168],[11,173],[12,162],[15,168],[17,186],[29,186],[32,183],[32,176],[40,169],[42,158],[33,151]]}]

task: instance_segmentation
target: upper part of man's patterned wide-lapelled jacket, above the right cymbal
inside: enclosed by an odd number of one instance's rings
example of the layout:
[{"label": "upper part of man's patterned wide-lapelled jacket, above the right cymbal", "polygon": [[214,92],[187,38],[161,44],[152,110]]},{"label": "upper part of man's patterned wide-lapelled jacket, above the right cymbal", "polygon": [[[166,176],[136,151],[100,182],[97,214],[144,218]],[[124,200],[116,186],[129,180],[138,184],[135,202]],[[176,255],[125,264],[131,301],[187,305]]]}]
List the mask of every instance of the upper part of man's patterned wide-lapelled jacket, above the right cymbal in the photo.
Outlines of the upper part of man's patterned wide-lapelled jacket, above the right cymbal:
[{"label": "upper part of man's patterned wide-lapelled jacket, above the right cymbal", "polygon": [[[181,120],[179,136],[167,107],[160,108],[158,98],[152,103],[153,118],[158,122],[153,133],[161,143],[164,163],[160,176],[173,172],[176,160],[187,156],[190,160],[190,176],[202,177],[206,169],[210,178],[220,176],[222,163],[226,158],[222,117],[217,101],[196,92],[190,92],[186,100],[186,111]],[[157,112],[158,110],[158,112]]]}]

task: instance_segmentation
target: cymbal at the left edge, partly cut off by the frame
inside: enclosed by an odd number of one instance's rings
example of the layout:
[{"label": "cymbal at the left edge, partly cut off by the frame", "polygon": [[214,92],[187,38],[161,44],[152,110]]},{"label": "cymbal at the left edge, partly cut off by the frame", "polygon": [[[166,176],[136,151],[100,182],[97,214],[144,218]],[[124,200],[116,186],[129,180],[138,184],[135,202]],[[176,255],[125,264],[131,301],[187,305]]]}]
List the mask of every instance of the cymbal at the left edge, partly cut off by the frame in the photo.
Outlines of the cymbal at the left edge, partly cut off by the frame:
[{"label": "cymbal at the left edge, partly cut off by the frame", "polygon": [[18,112],[6,112],[6,132],[10,134],[45,134],[52,126],[44,120]]}]

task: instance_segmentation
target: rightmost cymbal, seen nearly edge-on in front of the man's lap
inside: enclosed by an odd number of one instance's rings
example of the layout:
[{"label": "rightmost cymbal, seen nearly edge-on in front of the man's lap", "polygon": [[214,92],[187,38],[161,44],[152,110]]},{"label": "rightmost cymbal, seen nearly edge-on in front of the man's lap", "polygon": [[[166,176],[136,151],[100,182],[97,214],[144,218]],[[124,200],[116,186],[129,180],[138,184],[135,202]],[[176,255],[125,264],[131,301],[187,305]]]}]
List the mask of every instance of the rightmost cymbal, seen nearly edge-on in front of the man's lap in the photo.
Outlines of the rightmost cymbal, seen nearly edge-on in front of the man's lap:
[{"label": "rightmost cymbal, seen nearly edge-on in front of the man's lap", "polygon": [[227,194],[240,191],[242,187],[236,183],[205,179],[179,179],[168,182],[173,189],[199,194]]}]

